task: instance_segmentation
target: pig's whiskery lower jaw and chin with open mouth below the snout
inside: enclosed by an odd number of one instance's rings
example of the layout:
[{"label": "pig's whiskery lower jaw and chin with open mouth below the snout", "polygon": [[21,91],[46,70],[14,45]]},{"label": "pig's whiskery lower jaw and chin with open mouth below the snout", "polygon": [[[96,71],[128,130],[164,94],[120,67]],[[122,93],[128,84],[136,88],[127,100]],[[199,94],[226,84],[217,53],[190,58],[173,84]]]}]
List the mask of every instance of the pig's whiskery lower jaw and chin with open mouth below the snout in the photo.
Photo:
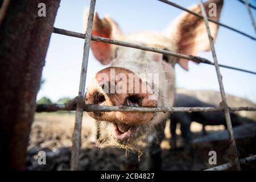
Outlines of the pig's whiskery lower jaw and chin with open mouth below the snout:
[{"label": "pig's whiskery lower jaw and chin with open mouth below the snout", "polygon": [[135,152],[147,152],[147,138],[155,133],[155,126],[162,121],[162,118],[163,113],[156,113],[150,122],[141,125],[100,121],[98,123],[101,128],[101,138],[98,147],[115,146]]}]

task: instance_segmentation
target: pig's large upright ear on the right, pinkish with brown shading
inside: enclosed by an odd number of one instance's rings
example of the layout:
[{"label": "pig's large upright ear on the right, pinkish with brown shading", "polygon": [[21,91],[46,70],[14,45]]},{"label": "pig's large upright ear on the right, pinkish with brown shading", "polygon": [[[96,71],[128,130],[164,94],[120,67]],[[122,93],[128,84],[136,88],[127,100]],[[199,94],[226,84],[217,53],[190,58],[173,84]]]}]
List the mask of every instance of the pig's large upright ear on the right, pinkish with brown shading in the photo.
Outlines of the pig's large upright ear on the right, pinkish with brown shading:
[{"label": "pig's large upright ear on the right, pinkish with brown shading", "polygon": [[[220,19],[222,5],[223,0],[205,2],[204,7],[208,18],[218,21]],[[214,9],[215,7],[216,9]],[[192,6],[189,10],[202,14],[200,5]],[[212,13],[216,13],[216,16],[209,16]],[[209,22],[209,27],[214,41],[218,32],[218,24]],[[177,52],[196,56],[199,51],[210,50],[208,34],[203,18],[189,13],[183,13],[170,28],[172,33],[169,35],[175,39]],[[185,70],[188,70],[188,60],[180,59],[179,65]]]}]

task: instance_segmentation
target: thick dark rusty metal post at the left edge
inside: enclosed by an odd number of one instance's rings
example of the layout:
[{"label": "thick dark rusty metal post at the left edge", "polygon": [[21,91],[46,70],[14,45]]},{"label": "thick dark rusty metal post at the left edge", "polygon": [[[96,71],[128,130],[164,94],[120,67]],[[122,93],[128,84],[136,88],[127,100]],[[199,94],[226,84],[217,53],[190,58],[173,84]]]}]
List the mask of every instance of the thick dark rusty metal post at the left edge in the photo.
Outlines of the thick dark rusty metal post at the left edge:
[{"label": "thick dark rusty metal post at the left edge", "polygon": [[[38,16],[41,2],[46,17]],[[59,3],[10,1],[0,12],[0,142],[5,169],[25,167],[36,94]]]}]

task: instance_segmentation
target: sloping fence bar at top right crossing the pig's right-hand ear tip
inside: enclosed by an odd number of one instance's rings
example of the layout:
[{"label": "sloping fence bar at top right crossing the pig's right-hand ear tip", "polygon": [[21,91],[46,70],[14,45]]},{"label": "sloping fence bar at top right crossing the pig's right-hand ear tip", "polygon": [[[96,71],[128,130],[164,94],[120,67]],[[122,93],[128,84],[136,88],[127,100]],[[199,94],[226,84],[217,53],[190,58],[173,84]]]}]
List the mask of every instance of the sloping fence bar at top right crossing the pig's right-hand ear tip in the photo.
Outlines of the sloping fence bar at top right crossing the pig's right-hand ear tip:
[{"label": "sloping fence bar at top right crossing the pig's right-hand ear tip", "polygon": [[[199,18],[203,18],[202,15],[200,15],[200,14],[194,12],[194,11],[191,11],[191,10],[189,10],[189,9],[186,9],[186,8],[183,7],[183,6],[177,5],[177,4],[174,3],[174,2],[167,1],[167,0],[158,0],[158,1],[163,2],[163,3],[166,3],[166,4],[171,5],[171,6],[174,6],[174,7],[176,7],[177,9],[180,9],[180,10],[183,10],[183,11],[187,11],[187,13],[193,14],[193,15],[199,17]],[[244,35],[244,36],[246,36],[247,38],[250,38],[250,39],[252,39],[252,40],[256,40],[256,38],[254,38],[253,36],[248,35],[248,34],[246,34],[245,32],[242,32],[242,31],[240,31],[240,30],[237,30],[236,28],[232,28],[232,27],[230,27],[230,26],[227,26],[227,25],[224,24],[224,23],[220,23],[220,22],[217,22],[216,20],[209,19],[209,18],[208,18],[208,21],[209,21],[209,22],[216,23],[216,24],[218,24],[218,25],[220,25],[220,26],[222,26],[222,27],[228,28],[229,30],[235,31],[235,32],[237,32],[238,34]]]}]

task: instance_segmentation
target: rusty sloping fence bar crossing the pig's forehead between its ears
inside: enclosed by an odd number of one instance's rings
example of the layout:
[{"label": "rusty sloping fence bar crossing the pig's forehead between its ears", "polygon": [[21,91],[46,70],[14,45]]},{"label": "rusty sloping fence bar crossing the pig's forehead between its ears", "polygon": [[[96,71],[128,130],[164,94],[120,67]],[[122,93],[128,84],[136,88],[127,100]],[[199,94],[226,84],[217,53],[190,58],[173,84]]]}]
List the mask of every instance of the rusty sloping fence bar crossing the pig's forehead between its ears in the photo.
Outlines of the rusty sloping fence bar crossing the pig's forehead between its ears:
[{"label": "rusty sloping fence bar crossing the pig's forehead between its ears", "polygon": [[[81,33],[78,33],[78,32],[73,32],[73,31],[68,31],[68,30],[63,30],[63,29],[60,29],[60,28],[54,28],[53,33],[61,34],[61,35],[67,35],[67,36],[73,36],[73,37],[76,37],[76,38],[84,39],[84,34],[81,34]],[[152,47],[142,46],[142,45],[139,45],[139,44],[123,42],[123,41],[120,41],[120,40],[101,38],[99,36],[93,36],[93,35],[92,35],[92,40],[96,41],[96,42],[104,42],[104,43],[109,43],[109,44],[115,44],[115,45],[118,45],[118,46],[137,48],[137,49],[141,49],[143,51],[163,53],[165,55],[171,55],[171,56],[175,56],[175,57],[180,57],[180,58],[192,60],[192,61],[195,61],[196,63],[204,63],[204,64],[214,65],[214,63],[212,63],[211,61],[209,61],[207,59],[204,59],[203,57],[199,57],[199,56],[183,55],[181,53],[167,51],[167,50],[163,50],[163,49],[159,49],[159,48],[152,48]],[[219,64],[219,66],[223,67],[223,68],[234,69],[234,70],[237,70],[237,71],[247,72],[247,73],[251,73],[251,74],[256,75],[256,72],[247,71],[245,69],[230,67],[230,66],[222,65],[222,64]]]}]

